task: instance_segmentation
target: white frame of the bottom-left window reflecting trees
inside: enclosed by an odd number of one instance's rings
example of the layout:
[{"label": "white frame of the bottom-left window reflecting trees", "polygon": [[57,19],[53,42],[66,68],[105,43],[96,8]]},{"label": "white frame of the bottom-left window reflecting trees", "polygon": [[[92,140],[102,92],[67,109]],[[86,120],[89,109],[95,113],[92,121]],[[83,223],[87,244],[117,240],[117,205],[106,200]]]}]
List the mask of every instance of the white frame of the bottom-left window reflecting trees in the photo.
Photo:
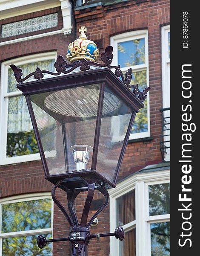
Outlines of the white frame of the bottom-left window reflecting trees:
[{"label": "white frame of the bottom-left window reflecting trees", "polygon": [[52,199],[51,199],[51,228],[1,233],[2,206],[4,204],[14,204],[14,203],[18,203],[18,202],[33,201],[33,200],[40,200],[40,199],[46,199],[46,198],[51,198],[50,192],[34,193],[34,194],[28,194],[28,195],[18,195],[18,196],[13,196],[10,198],[0,199],[0,255],[2,255],[2,245],[3,245],[2,240],[3,240],[3,238],[20,237],[20,236],[34,236],[34,235],[38,235],[38,234],[40,235],[40,234],[44,234],[44,233],[50,233],[53,236],[54,204],[53,204]]}]

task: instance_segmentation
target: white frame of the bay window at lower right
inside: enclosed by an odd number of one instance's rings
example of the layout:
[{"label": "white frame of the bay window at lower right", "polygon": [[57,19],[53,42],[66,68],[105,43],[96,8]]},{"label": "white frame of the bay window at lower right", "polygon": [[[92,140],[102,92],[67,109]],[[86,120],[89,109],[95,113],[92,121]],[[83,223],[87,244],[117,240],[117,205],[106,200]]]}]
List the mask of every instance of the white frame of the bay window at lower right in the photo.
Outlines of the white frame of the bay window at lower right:
[{"label": "white frame of the bay window at lower right", "polygon": [[[116,229],[116,200],[135,189],[136,220],[123,226],[125,232],[136,227],[136,255],[151,256],[150,224],[170,221],[170,214],[149,216],[149,185],[170,182],[170,170],[138,173],[118,183],[110,195],[110,232]],[[120,242],[110,237],[110,256],[119,255]]]}]

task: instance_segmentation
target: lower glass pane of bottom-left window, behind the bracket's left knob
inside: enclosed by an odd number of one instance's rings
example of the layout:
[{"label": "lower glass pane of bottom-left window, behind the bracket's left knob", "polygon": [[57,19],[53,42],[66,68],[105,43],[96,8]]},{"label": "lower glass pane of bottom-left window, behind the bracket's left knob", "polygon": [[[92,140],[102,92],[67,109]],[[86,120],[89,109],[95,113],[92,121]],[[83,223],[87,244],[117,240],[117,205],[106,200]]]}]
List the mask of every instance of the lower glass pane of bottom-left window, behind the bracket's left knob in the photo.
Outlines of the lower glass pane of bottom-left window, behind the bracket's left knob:
[{"label": "lower glass pane of bottom-left window, behind the bracket's left knob", "polygon": [[[51,239],[51,234],[46,234]],[[51,256],[52,244],[42,250],[37,246],[37,236],[21,236],[3,239],[2,256]]]}]

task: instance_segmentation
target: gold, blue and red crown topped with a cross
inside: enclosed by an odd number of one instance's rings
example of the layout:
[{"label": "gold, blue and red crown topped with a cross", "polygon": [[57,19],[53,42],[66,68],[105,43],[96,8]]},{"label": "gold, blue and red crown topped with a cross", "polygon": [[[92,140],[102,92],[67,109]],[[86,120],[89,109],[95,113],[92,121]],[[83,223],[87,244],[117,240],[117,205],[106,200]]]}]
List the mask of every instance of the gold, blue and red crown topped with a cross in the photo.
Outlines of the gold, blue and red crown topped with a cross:
[{"label": "gold, blue and red crown topped with a cross", "polygon": [[68,54],[66,55],[69,63],[86,59],[87,61],[97,61],[99,49],[94,41],[88,40],[85,32],[87,29],[82,26],[79,29],[80,35],[78,39],[70,43],[68,46]]}]

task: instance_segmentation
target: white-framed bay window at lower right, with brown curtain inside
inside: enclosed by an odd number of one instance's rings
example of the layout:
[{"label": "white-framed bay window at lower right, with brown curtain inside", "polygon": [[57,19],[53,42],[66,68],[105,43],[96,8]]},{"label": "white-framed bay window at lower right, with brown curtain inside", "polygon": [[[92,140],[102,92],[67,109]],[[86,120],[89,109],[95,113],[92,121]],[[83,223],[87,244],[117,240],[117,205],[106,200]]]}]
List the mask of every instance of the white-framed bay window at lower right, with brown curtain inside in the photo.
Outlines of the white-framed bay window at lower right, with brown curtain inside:
[{"label": "white-framed bay window at lower right, with brown curtain inside", "polygon": [[170,256],[169,175],[138,173],[110,190],[110,231],[125,230],[123,242],[110,239],[111,256]]}]

